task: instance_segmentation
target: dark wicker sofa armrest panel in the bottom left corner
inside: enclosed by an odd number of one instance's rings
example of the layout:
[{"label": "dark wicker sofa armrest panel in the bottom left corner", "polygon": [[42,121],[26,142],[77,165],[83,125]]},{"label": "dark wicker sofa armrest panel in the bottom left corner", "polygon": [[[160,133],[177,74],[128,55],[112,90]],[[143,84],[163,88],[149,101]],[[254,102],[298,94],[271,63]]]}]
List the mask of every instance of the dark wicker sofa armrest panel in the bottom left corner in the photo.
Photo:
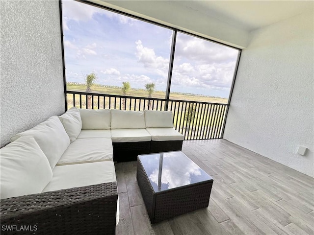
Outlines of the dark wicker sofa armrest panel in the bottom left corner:
[{"label": "dark wicker sofa armrest panel in the bottom left corner", "polygon": [[[117,200],[116,182],[2,199],[1,235],[114,235]],[[4,225],[37,231],[3,231]]]}]

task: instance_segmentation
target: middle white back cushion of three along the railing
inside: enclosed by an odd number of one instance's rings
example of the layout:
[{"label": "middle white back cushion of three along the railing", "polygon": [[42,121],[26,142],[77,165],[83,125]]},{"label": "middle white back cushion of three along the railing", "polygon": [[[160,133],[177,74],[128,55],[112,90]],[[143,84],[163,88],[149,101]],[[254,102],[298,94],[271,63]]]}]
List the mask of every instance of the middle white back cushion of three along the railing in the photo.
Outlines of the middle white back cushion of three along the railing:
[{"label": "middle white back cushion of three along the railing", "polygon": [[111,129],[144,129],[143,111],[111,110]]}]

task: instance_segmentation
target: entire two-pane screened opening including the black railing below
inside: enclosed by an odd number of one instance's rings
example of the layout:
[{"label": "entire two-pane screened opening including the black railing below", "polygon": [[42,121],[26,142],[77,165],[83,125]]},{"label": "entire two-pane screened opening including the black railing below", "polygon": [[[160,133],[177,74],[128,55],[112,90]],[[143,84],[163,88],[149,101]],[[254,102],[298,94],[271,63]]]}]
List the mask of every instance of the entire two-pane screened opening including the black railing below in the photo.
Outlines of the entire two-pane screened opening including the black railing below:
[{"label": "entire two-pane screened opening including the black railing below", "polygon": [[168,110],[185,140],[223,135],[240,49],[88,1],[62,1],[67,107]]}]

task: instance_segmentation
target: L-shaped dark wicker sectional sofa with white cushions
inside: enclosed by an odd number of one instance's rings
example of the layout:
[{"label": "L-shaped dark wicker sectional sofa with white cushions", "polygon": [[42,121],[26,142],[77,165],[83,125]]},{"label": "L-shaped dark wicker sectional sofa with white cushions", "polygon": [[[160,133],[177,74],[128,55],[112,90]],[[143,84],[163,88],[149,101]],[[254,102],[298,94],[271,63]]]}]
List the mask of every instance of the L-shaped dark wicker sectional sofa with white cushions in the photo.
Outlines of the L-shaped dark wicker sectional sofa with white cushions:
[{"label": "L-shaped dark wicker sectional sofa with white cushions", "polygon": [[168,111],[72,108],[53,116],[1,149],[1,225],[35,234],[115,234],[114,162],[181,150],[183,139]]}]

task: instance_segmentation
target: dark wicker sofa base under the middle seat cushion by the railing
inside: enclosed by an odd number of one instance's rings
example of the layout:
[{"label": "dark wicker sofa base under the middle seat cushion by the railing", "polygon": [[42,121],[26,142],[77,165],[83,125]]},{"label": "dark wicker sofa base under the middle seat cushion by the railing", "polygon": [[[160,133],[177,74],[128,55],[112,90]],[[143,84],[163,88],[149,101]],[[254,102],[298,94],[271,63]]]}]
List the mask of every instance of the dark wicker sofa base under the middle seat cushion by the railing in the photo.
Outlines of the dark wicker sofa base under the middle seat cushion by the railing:
[{"label": "dark wicker sofa base under the middle seat cushion by the railing", "polygon": [[113,161],[128,162],[136,161],[137,155],[150,153],[151,141],[141,142],[114,142]]}]

